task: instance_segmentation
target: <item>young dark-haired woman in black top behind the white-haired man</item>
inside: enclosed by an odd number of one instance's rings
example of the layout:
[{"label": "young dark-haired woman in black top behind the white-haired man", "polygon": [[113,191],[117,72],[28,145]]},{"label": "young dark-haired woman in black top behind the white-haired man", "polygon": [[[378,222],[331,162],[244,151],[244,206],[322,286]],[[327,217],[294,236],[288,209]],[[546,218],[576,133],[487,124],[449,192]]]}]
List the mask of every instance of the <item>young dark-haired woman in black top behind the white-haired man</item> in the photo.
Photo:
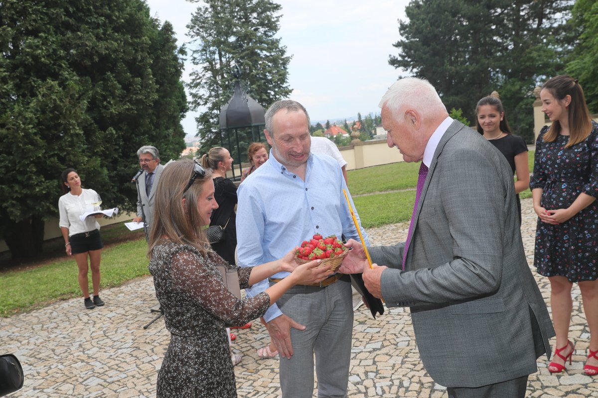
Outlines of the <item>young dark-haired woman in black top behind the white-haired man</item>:
[{"label": "young dark-haired woman in black top behind the white-haired man", "polygon": [[523,138],[511,134],[507,115],[505,115],[505,109],[499,98],[493,95],[482,98],[478,101],[475,112],[477,113],[478,132],[502,152],[502,155],[507,158],[513,174],[517,176],[515,193],[517,194],[517,209],[519,211],[519,224],[521,225],[519,193],[529,189],[529,163],[525,141],[523,141]]}]

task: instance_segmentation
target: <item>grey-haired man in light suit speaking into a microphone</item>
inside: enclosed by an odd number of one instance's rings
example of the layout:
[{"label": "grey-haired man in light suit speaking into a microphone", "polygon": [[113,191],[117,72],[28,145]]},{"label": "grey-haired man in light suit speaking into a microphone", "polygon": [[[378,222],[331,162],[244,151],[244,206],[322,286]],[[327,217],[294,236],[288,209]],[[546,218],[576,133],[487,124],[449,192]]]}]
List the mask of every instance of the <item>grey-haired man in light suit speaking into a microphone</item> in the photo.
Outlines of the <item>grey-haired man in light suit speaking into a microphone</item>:
[{"label": "grey-haired man in light suit speaking into a microphone", "polygon": [[145,240],[149,237],[154,212],[154,188],[158,186],[164,166],[160,164],[160,152],[153,146],[142,146],[137,151],[139,165],[144,173],[137,180],[137,217],[135,223],[144,222]]}]

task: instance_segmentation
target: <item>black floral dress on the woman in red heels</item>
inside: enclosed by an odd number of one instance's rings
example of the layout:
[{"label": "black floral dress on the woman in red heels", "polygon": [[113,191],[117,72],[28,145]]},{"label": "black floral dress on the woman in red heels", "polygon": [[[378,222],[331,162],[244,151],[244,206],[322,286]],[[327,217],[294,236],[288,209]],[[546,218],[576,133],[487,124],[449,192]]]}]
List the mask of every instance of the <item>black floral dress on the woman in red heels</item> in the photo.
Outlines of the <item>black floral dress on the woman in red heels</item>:
[{"label": "black floral dress on the woman in red heels", "polygon": [[[541,205],[565,209],[580,193],[598,198],[598,124],[585,141],[565,148],[568,135],[547,143],[542,128],[530,188],[542,188]],[[534,265],[544,276],[565,276],[571,282],[598,279],[598,206],[596,201],[565,223],[551,225],[538,218]]]}]

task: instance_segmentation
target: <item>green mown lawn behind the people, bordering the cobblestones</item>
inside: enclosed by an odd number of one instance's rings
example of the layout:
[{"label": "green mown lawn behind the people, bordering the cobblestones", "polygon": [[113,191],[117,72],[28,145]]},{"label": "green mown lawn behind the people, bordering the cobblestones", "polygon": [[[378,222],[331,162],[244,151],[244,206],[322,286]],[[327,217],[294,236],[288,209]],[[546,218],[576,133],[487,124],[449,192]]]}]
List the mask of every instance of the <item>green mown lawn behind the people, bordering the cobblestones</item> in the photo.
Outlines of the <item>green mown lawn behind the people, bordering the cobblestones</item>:
[{"label": "green mown lawn behind the people, bordering the cobblestones", "polygon": [[[533,152],[529,153],[530,170]],[[419,163],[393,163],[349,171],[349,190],[365,228],[408,221],[413,211]],[[390,192],[393,191],[393,192]],[[396,192],[398,191],[398,192]],[[368,195],[370,194],[370,195]],[[528,191],[521,198],[531,196]],[[134,238],[130,240],[130,238]],[[142,232],[124,224],[102,228],[102,288],[148,275],[147,243]],[[123,242],[123,239],[127,239]],[[44,244],[46,258],[0,271],[0,317],[39,308],[57,300],[81,297],[77,264],[64,254],[62,238]],[[51,260],[54,258],[54,260]],[[39,262],[43,265],[38,266]],[[91,282],[91,274],[90,274]]]}]

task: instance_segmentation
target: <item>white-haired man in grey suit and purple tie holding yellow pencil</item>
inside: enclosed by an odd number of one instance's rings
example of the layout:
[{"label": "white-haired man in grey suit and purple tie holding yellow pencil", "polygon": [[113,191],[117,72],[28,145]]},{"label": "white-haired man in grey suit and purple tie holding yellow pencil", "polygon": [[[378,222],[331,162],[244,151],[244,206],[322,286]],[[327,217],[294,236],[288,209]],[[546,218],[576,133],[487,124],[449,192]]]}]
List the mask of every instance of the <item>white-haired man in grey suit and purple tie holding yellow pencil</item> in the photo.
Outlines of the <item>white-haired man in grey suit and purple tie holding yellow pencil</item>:
[{"label": "white-haired man in grey suit and purple tie holding yellow pencil", "polygon": [[422,161],[407,242],[358,242],[340,271],[363,271],[389,307],[411,309],[426,370],[449,397],[524,397],[554,329],[527,265],[511,169],[449,117],[429,82],[404,78],[380,101],[388,146]]}]

